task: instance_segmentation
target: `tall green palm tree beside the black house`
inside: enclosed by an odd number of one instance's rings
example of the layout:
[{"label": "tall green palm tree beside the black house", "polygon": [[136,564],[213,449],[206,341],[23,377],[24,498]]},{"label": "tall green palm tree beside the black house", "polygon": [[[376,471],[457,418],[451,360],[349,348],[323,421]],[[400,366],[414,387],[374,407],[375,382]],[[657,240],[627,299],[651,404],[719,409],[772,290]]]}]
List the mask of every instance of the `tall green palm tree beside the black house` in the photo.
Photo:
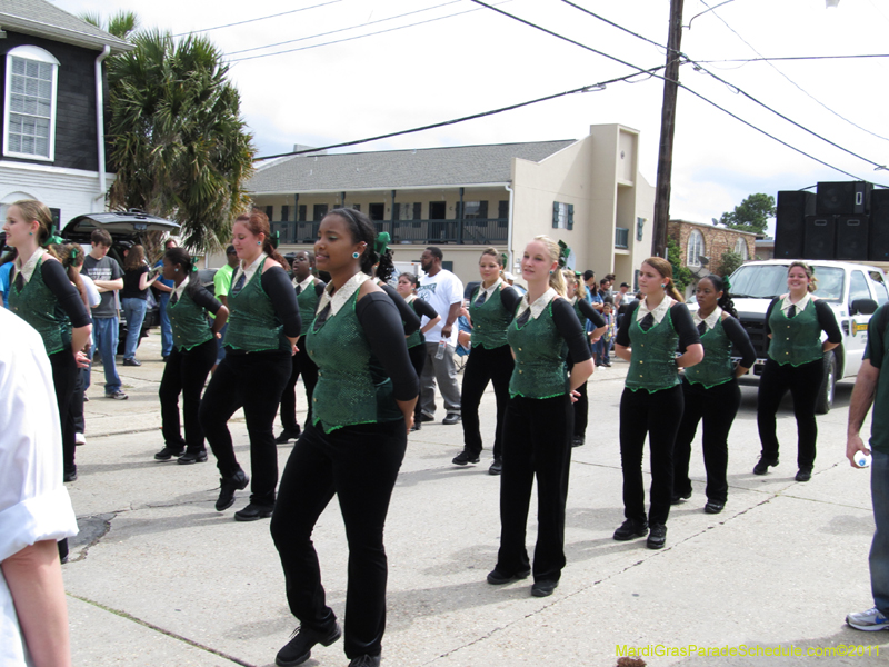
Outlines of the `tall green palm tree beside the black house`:
[{"label": "tall green palm tree beside the black house", "polygon": [[203,37],[151,30],[109,59],[112,208],[176,220],[197,251],[229,242],[244,210],[254,149],[221,52]]}]

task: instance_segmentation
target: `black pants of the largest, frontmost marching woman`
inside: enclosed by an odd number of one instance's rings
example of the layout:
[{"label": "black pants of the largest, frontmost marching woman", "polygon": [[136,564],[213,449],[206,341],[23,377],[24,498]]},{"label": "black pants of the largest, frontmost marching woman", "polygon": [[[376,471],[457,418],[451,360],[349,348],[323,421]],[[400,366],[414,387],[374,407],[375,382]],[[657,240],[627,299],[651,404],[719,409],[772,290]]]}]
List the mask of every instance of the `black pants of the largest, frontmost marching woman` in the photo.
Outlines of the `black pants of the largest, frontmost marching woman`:
[{"label": "black pants of the largest, frontmost marching woman", "polygon": [[309,424],[281,477],[271,536],[287,584],[290,611],[303,628],[328,630],[312,530],[336,494],[349,540],[346,656],[380,654],[386,629],[388,565],[382,535],[408,438],[404,420],[347,426],[329,434]]}]

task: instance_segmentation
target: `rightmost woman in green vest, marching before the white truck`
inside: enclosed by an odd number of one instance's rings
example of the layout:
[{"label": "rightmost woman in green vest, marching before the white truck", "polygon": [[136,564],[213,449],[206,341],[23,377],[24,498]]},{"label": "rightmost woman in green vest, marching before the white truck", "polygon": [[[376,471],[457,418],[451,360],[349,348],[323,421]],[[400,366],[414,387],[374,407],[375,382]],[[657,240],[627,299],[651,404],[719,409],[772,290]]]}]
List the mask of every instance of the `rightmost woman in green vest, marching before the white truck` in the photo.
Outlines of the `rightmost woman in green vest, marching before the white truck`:
[{"label": "rightmost woman in green vest, marching before the white truck", "polygon": [[[759,379],[757,426],[762,454],[753,467],[765,475],[769,466],[778,465],[776,414],[781,398],[790,390],[793,415],[797,418],[797,481],[809,481],[815,466],[815,442],[818,425],[815,406],[825,374],[825,352],[842,341],[837,318],[818,297],[812,268],[795,261],[787,271],[786,295],[772,299],[766,311],[766,335],[769,337],[769,358]],[[821,341],[821,332],[827,340]]]}]

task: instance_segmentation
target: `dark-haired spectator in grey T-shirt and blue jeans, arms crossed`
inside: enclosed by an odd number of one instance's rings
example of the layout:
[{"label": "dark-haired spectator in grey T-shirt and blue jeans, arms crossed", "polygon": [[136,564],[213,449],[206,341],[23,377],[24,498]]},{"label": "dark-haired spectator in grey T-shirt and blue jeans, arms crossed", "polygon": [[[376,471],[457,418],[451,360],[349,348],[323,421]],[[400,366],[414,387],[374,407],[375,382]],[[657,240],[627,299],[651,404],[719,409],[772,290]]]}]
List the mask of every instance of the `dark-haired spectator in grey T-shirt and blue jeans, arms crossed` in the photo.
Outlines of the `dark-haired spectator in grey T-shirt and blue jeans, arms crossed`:
[{"label": "dark-haired spectator in grey T-shirt and blue jeans, arms crossed", "polygon": [[[90,235],[90,242],[92,250],[83,260],[81,273],[86,273],[92,279],[102,296],[102,302],[92,309],[93,345],[90,348],[90,359],[98,349],[102,356],[102,367],[104,368],[104,397],[126,400],[129,397],[121,390],[120,376],[114,361],[120,327],[114,292],[123,289],[123,271],[113,257],[108,257],[108,251],[111,249],[110,233],[104,229],[94,229]],[[84,390],[89,388],[90,379],[87,377]]]}]

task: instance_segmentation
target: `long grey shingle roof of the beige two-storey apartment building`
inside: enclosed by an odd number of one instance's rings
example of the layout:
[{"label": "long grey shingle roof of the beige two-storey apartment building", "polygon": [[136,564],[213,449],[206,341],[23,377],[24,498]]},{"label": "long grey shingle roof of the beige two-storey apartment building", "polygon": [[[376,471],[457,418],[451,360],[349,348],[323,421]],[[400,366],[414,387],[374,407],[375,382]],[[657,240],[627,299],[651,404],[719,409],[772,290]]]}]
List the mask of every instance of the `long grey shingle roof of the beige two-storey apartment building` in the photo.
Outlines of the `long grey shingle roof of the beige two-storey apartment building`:
[{"label": "long grey shingle roof of the beige two-storey apartment building", "polygon": [[540,162],[573,140],[293,156],[263,165],[252,195],[509,183],[512,158]]}]

